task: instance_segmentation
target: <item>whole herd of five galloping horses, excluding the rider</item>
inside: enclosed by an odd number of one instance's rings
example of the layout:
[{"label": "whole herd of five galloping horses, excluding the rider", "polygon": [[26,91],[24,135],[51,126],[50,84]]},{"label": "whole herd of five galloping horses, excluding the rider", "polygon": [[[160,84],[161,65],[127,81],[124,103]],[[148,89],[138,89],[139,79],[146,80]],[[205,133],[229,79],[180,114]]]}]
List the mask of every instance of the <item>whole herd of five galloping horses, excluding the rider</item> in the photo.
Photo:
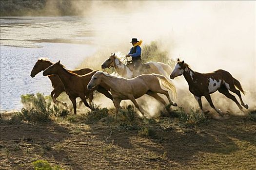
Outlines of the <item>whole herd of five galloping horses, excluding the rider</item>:
[{"label": "whole herd of five galloping horses, excluding the rider", "polygon": [[[241,111],[242,106],[248,109],[248,105],[241,98],[240,91],[244,94],[241,84],[225,70],[219,69],[203,74],[193,71],[188,64],[179,59],[177,59],[177,65],[174,69],[160,62],[148,62],[145,65],[148,66],[148,69],[138,68],[131,70],[121,62],[121,56],[112,53],[101,65],[101,68],[115,68],[119,76],[114,76],[90,68],[68,70],[60,64],[60,61],[52,63],[47,59],[38,59],[30,75],[35,77],[39,72],[43,71],[43,76],[49,77],[54,88],[51,92],[53,102],[66,106],[65,102],[57,100],[58,96],[65,91],[73,104],[74,114],[77,113],[76,98],[79,97],[81,99],[79,105],[83,102],[85,106],[92,109],[90,103],[93,100],[93,92],[97,90],[113,101],[116,108],[115,118],[117,118],[118,110],[121,108],[120,102],[122,100],[131,100],[145,118],[146,111],[140,107],[136,99],[147,94],[166,105],[165,100],[158,95],[163,94],[167,97],[169,106],[177,106],[177,103],[171,101],[169,92],[172,95],[176,95],[176,88],[171,79],[180,75],[183,75],[188,82],[189,91],[195,96],[202,114],[204,112],[201,97],[204,96],[211,107],[220,116],[223,116],[221,110],[214,106],[210,96],[211,93],[217,90],[236,102]],[[242,106],[236,100],[236,97],[229,93],[229,90],[239,97]],[[86,101],[88,98],[89,104]]]}]

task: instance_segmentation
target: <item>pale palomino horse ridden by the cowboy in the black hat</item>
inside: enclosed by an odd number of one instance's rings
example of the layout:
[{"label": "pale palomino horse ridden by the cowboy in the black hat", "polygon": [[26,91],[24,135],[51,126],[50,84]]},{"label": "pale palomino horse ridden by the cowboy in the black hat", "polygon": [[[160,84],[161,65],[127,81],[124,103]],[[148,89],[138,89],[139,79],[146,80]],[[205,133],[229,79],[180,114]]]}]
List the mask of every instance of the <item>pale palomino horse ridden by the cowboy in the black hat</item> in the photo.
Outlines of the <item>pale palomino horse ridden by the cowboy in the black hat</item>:
[{"label": "pale palomino horse ridden by the cowboy in the black hat", "polygon": [[139,76],[141,74],[160,74],[167,78],[169,78],[169,75],[172,72],[172,68],[166,64],[160,63],[160,62],[147,62],[145,65],[149,66],[149,68],[146,69],[140,69],[140,70],[131,70],[128,68],[125,64],[123,64],[120,59],[120,57],[116,56],[116,53],[111,54],[111,56],[101,65],[101,68],[115,68],[117,73],[125,77],[127,79]]}]

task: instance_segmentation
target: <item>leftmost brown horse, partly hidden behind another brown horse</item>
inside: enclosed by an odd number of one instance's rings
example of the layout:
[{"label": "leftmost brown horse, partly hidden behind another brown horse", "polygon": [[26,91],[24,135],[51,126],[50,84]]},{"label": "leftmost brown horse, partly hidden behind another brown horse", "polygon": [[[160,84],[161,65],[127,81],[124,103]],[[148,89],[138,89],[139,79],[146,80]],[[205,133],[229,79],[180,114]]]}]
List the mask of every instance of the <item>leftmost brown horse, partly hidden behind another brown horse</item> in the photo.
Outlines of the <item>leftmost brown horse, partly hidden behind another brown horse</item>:
[{"label": "leftmost brown horse, partly hidden behind another brown horse", "polygon": [[[38,59],[38,61],[36,62],[35,66],[33,67],[30,76],[33,78],[35,77],[39,72],[45,70],[46,68],[48,68],[49,66],[53,65],[53,63],[47,59]],[[78,75],[84,75],[87,74],[89,72],[92,72],[93,70],[90,68],[82,68],[82,69],[77,69],[77,70],[68,70],[71,73],[76,73]],[[62,104],[64,106],[67,106],[67,104],[65,102],[60,102],[57,100],[57,98],[59,97],[59,95],[65,91],[63,84],[61,83],[61,81],[59,80],[59,77],[57,75],[48,75],[52,86],[53,86],[53,91],[51,92],[51,97],[52,100],[55,104]],[[93,95],[89,96],[89,103],[92,102],[93,100]],[[81,105],[82,101],[79,102],[79,105]]]}]

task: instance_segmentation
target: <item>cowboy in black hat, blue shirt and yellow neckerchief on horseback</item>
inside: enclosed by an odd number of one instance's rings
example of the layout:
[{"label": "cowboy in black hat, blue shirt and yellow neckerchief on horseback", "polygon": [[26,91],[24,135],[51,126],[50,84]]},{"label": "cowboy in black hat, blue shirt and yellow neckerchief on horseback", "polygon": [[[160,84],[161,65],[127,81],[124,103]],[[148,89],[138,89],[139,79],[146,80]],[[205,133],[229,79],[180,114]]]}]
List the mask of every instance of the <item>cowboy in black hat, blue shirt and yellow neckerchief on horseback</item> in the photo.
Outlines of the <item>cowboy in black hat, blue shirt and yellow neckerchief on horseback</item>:
[{"label": "cowboy in black hat, blue shirt and yellow neckerchief on horseback", "polygon": [[130,52],[125,56],[132,57],[134,67],[138,68],[141,65],[141,48],[139,46],[142,43],[142,40],[138,41],[137,38],[132,38],[132,41],[130,43],[133,44],[133,47],[131,48]]}]

